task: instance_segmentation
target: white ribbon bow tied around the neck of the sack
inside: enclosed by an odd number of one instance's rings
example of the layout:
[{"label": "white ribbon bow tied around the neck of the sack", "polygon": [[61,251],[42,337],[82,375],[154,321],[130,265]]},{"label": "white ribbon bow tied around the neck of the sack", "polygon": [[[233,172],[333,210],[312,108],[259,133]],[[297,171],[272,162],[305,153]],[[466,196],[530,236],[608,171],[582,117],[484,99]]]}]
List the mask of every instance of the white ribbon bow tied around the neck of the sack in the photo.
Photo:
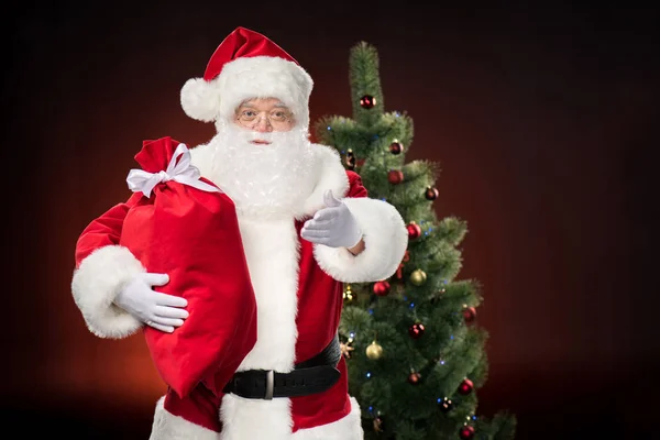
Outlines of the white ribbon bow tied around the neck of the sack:
[{"label": "white ribbon bow tied around the neck of the sack", "polygon": [[[182,156],[182,160],[178,161],[177,164],[176,161],[179,156]],[[201,174],[199,173],[199,169],[191,164],[190,151],[186,144],[179,144],[174,151],[174,155],[172,156],[166,170],[147,173],[144,169],[131,169],[129,172],[129,176],[127,177],[127,182],[129,184],[129,188],[131,188],[133,193],[142,191],[142,194],[144,194],[146,197],[151,196],[151,193],[156,185],[168,180],[175,180],[179,184],[189,185],[197,189],[201,189],[202,191],[222,193],[219,188],[199,180],[200,175]]]}]

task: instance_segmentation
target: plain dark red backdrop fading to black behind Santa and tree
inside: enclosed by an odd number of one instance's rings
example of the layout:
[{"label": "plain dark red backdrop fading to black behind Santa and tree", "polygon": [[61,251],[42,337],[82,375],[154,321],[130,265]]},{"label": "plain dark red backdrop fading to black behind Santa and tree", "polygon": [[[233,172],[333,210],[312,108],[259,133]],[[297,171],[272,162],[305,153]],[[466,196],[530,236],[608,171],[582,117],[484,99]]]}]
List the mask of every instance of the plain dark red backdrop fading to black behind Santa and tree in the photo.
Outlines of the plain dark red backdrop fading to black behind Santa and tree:
[{"label": "plain dark red backdrop fading to black behind Santa and tree", "polygon": [[518,439],[651,432],[654,10],[99,4],[25,4],[4,29],[3,418],[28,435],[148,437],[163,386],[142,338],[85,328],[74,246],[130,195],[142,140],[210,139],[179,90],[243,25],[315,78],[312,119],[350,116],[349,50],[378,48],[386,110],[415,122],[407,160],[440,162],[437,212],[470,228],[460,277],[483,284],[491,333],[482,414],[516,413]]}]

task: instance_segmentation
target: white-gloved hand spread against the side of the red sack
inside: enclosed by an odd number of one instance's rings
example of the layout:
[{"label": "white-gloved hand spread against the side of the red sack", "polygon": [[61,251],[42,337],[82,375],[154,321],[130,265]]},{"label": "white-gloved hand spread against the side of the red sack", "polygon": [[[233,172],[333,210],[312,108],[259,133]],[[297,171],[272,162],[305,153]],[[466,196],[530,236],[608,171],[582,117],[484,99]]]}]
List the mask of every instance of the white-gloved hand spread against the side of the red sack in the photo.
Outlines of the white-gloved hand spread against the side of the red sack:
[{"label": "white-gloved hand spread against the side of the red sack", "polygon": [[138,274],[117,295],[114,304],[147,326],[172,333],[175,327],[182,326],[184,319],[188,318],[188,312],[179,308],[186,307],[188,301],[152,289],[152,286],[163,286],[167,283],[167,274]]}]

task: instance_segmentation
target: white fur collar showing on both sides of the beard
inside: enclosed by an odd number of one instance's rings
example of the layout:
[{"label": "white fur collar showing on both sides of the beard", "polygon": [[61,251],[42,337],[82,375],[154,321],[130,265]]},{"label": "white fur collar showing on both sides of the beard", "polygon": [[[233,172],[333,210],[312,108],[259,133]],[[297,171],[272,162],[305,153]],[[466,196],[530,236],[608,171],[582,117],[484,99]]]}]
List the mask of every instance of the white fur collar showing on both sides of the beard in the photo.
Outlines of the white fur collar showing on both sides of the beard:
[{"label": "white fur collar showing on both sides of the beard", "polygon": [[[301,220],[311,217],[316,211],[324,207],[323,194],[332,189],[336,197],[344,197],[349,190],[349,177],[341,163],[341,156],[331,146],[312,144],[314,161],[318,178],[316,185],[305,202],[296,207],[294,217]],[[211,148],[209,144],[201,144],[190,150],[193,165],[199,168],[201,175],[210,175]],[[209,177],[207,177],[209,178]]]}]

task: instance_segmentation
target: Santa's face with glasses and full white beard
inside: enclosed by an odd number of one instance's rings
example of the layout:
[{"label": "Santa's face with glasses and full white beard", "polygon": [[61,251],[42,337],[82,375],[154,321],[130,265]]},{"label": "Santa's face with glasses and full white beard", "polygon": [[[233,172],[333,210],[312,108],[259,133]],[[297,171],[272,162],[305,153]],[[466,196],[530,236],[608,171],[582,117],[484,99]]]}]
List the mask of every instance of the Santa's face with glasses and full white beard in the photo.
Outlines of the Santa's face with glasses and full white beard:
[{"label": "Santa's face with glasses and full white beard", "polygon": [[311,194],[317,175],[306,128],[277,99],[242,102],[232,121],[217,121],[213,182],[242,213],[290,215]]}]

